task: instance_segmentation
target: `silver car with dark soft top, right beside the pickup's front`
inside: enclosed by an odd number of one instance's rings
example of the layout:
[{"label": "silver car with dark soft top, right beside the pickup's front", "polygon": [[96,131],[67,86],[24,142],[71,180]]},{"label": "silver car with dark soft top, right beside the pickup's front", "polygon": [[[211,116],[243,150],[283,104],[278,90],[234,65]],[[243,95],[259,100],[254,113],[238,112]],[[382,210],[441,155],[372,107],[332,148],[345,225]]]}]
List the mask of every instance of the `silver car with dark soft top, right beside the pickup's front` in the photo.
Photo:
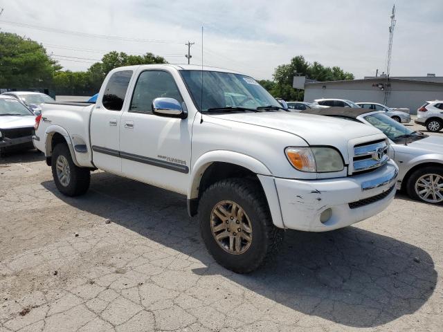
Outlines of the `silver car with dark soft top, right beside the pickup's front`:
[{"label": "silver car with dark soft top, right beside the pickup's front", "polygon": [[397,189],[426,203],[443,203],[443,137],[413,131],[392,120],[383,111],[331,108],[306,113],[322,114],[370,124],[390,141],[390,156],[399,166]]}]

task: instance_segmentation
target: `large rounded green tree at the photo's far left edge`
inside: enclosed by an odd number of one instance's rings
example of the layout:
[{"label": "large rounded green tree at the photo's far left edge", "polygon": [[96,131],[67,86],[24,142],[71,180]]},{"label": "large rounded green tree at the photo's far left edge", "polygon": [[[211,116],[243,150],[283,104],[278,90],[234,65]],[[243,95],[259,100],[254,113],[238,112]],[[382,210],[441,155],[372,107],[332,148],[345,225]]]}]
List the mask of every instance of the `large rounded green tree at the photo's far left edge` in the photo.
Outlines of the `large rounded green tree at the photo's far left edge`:
[{"label": "large rounded green tree at the photo's far left edge", "polygon": [[60,68],[37,42],[14,33],[0,33],[1,88],[47,88]]}]

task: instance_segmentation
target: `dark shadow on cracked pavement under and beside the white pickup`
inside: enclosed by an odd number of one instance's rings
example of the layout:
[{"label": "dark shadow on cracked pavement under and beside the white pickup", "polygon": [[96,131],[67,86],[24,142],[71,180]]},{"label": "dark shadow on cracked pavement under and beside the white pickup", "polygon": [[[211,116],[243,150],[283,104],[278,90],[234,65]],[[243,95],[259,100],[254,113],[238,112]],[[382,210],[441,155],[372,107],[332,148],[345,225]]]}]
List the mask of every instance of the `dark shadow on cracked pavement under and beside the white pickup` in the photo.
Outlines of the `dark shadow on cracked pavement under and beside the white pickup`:
[{"label": "dark shadow on cracked pavement under and beside the white pickup", "polygon": [[[287,231],[282,250],[260,270],[237,275],[214,264],[199,237],[186,198],[106,173],[91,190],[62,196],[80,210],[111,219],[152,241],[198,259],[200,276],[222,275],[296,312],[354,327],[374,327],[417,311],[437,283],[433,259],[416,246],[356,227],[325,233]],[[194,250],[190,250],[192,247]]]}]

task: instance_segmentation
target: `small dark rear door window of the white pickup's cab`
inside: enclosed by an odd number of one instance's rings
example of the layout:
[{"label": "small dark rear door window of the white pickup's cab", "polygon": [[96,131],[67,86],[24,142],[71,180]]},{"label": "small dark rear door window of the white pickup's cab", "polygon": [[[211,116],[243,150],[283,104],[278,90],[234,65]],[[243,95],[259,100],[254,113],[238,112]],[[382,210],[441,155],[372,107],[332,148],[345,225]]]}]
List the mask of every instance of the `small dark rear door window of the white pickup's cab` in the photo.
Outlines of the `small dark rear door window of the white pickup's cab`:
[{"label": "small dark rear door window of the white pickup's cab", "polygon": [[132,71],[117,71],[109,77],[102,104],[109,111],[121,111]]}]

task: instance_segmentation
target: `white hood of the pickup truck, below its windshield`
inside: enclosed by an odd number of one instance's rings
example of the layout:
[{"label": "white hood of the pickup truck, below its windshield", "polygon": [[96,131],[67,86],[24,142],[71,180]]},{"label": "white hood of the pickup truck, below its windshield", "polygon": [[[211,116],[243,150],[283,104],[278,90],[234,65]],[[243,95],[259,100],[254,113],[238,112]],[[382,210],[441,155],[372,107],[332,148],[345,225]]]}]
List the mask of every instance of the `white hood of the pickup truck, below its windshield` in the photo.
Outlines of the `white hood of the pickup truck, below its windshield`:
[{"label": "white hood of the pickup truck, below its windshield", "polygon": [[381,133],[379,129],[367,124],[296,112],[228,113],[210,116],[287,131],[300,136],[309,145],[343,147],[353,138]]}]

